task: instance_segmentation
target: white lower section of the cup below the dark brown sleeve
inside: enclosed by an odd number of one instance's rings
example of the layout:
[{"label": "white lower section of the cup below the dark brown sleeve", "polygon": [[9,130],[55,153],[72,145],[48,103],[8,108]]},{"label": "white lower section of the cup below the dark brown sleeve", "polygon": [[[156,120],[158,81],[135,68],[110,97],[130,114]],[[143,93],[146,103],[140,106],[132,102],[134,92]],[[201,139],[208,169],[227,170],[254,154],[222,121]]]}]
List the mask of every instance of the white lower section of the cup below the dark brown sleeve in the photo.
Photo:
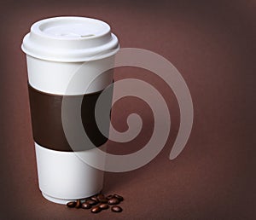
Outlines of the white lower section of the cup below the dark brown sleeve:
[{"label": "white lower section of the cup below the dark brown sleeve", "polygon": [[51,150],[36,142],[35,149],[39,189],[46,200],[67,204],[102,190],[104,172],[85,164],[76,153]]}]

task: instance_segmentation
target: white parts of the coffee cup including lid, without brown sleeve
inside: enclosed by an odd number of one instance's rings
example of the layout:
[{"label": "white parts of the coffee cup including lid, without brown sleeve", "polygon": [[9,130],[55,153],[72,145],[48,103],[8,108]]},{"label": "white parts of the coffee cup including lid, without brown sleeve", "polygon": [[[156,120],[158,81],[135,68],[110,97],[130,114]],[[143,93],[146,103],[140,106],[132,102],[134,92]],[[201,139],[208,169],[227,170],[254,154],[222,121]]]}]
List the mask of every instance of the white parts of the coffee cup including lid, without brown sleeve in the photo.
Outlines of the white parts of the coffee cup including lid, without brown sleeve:
[{"label": "white parts of the coffee cup including lid, without brown sleeve", "polygon": [[[34,23],[21,48],[33,89],[52,96],[77,96],[84,95],[84,86],[112,66],[119,42],[101,20],[56,17]],[[78,70],[84,74],[75,78],[77,86],[67,90]],[[112,82],[113,74],[108,72],[85,94],[104,90]],[[47,200],[66,204],[102,190],[103,171],[85,164],[76,153],[53,150],[38,142],[35,150],[39,188]]]}]

